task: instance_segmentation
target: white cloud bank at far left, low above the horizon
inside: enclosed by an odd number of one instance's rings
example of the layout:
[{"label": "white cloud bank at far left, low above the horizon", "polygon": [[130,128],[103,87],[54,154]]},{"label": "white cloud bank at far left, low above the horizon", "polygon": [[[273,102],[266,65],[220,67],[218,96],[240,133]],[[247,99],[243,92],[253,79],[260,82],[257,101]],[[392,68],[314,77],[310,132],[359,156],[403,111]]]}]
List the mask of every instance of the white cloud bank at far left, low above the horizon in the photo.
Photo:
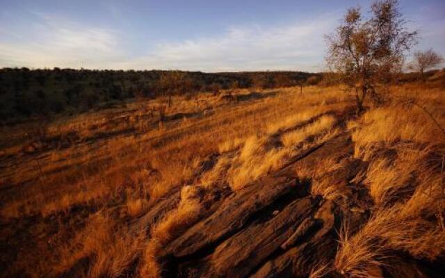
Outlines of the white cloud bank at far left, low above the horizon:
[{"label": "white cloud bank at far left, low above the horizon", "polygon": [[29,30],[0,40],[0,67],[101,67],[121,55],[118,34],[35,13]]}]

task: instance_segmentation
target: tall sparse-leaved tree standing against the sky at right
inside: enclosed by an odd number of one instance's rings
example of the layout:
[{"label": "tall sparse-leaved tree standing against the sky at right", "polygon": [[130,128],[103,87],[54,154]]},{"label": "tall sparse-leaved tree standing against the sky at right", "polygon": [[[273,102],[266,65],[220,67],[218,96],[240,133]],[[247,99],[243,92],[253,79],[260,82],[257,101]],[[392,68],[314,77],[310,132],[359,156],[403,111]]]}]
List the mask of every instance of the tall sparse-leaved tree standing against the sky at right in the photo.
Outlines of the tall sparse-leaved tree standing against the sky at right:
[{"label": "tall sparse-leaved tree standing against the sky at right", "polygon": [[355,90],[357,113],[366,95],[378,99],[376,86],[400,71],[405,53],[416,43],[407,31],[397,0],[375,1],[369,17],[350,8],[337,31],[327,36],[327,64]]}]

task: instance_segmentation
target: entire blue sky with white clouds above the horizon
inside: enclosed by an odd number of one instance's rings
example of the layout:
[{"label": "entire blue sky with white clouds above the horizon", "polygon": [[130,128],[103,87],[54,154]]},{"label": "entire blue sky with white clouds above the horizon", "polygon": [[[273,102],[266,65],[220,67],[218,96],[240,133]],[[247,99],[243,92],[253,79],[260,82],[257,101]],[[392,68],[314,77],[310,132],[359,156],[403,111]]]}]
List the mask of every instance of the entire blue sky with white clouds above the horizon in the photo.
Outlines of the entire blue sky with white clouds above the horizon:
[{"label": "entire blue sky with white clouds above the horizon", "polygon": [[[325,69],[324,35],[346,0],[0,0],[0,67],[111,70]],[[445,55],[445,1],[400,0],[417,50]]]}]

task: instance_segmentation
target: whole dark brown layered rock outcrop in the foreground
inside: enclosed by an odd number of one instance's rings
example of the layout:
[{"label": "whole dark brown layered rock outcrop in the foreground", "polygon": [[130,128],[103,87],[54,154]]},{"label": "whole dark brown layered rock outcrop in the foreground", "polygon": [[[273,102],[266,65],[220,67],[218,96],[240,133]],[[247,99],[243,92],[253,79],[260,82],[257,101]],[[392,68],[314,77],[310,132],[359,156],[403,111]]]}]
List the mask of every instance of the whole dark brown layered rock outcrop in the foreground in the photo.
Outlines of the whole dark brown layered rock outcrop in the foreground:
[{"label": "whole dark brown layered rock outcrop in the foreground", "polygon": [[[355,219],[357,225],[366,220],[366,213],[349,209],[360,208],[354,202],[357,193],[348,189],[360,163],[351,159],[348,167],[330,175],[330,182],[346,188],[346,197],[312,196],[312,181],[301,181],[296,174],[299,163],[316,167],[332,152],[345,157],[353,153],[347,133],[307,150],[274,174],[221,195],[202,220],[164,247],[159,258],[164,276],[307,277],[312,268],[332,262],[343,217]],[[177,198],[179,193],[174,193],[154,206],[140,225]]]}]

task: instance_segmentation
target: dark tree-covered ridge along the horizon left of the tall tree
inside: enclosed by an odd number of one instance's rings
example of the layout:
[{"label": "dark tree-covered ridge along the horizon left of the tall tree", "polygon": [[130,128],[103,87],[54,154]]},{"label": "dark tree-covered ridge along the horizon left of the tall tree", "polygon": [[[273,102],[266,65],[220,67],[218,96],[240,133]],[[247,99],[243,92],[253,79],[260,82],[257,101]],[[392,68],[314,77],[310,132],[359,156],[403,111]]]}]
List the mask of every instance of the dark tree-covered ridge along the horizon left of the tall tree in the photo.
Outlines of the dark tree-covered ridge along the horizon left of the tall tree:
[{"label": "dark tree-covered ridge along the horizon left of the tall tree", "polygon": [[277,88],[312,84],[307,72],[181,72],[160,70],[0,69],[0,120],[87,110],[133,97],[166,97],[237,88]]}]

